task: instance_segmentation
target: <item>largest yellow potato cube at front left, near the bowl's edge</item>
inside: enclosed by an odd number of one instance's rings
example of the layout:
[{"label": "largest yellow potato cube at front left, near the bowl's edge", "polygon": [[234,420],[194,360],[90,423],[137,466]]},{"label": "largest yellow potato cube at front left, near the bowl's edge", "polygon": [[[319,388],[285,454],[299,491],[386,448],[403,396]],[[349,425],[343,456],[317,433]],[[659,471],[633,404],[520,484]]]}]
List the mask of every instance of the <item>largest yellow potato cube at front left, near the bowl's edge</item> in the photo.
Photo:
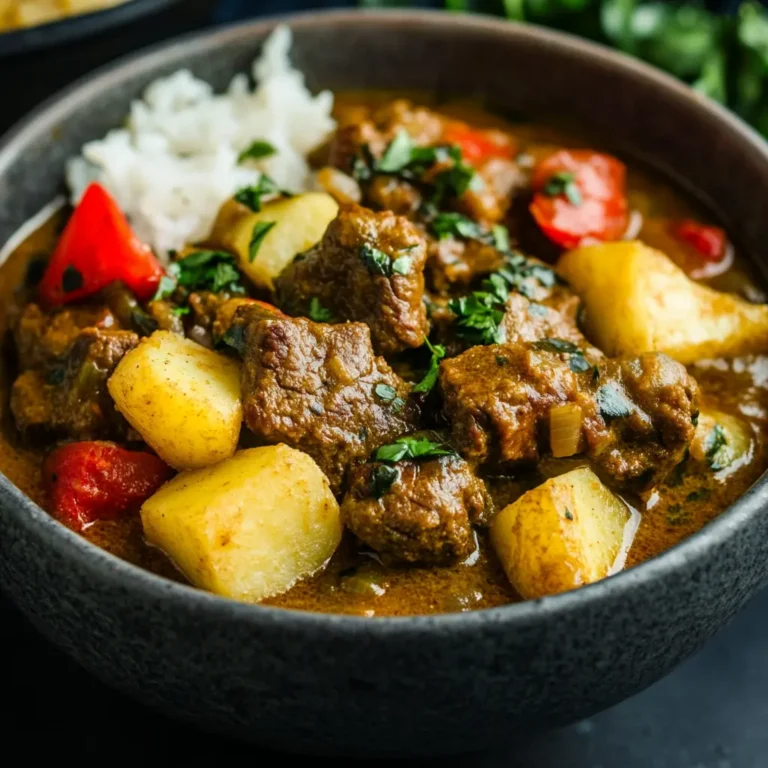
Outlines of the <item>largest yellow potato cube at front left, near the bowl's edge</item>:
[{"label": "largest yellow potato cube at front left, near the bowl's edge", "polygon": [[322,568],[342,532],[325,475],[287,445],[183,472],[144,503],[141,521],[195,586],[247,602]]}]

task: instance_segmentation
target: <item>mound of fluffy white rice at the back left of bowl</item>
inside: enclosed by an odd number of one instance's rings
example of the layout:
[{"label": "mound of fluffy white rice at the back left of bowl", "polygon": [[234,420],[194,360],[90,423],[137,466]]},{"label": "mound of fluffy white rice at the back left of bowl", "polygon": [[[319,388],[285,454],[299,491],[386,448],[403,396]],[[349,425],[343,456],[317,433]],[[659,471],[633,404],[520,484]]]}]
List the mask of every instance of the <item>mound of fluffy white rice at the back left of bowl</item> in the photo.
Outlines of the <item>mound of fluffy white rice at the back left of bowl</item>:
[{"label": "mound of fluffy white rice at the back left of bowl", "polygon": [[[221,95],[188,70],[156,80],[131,105],[125,128],[86,144],[69,162],[72,201],[99,181],[164,259],[206,237],[221,204],[261,171],[283,189],[309,188],[306,157],[335,127],[333,95],[309,92],[291,66],[290,45],[290,30],[278,27],[253,66],[255,90],[246,75]],[[238,165],[240,152],[257,139],[277,153]]]}]

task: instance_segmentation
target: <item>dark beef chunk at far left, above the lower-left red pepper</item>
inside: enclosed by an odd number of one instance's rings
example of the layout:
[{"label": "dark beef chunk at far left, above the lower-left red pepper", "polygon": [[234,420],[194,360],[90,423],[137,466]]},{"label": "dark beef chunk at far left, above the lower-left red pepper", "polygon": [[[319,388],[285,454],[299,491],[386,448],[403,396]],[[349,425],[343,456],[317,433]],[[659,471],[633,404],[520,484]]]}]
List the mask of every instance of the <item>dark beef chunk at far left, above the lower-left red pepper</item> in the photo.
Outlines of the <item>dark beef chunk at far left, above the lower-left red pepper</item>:
[{"label": "dark beef chunk at far left, above the lower-left red pepper", "polygon": [[18,429],[78,440],[123,437],[128,427],[115,410],[107,379],[138,343],[130,331],[86,328],[58,367],[24,371],[11,390]]}]

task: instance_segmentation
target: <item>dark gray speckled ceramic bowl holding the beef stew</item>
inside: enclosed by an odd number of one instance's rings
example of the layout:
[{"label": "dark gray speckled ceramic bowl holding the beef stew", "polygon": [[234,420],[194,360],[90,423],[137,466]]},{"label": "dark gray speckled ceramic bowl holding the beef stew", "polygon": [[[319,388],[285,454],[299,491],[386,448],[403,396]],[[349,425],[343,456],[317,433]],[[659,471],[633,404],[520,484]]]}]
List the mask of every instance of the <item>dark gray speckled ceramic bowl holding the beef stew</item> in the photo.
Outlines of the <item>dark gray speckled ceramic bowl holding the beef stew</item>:
[{"label": "dark gray speckled ceramic bowl holding the beef stew", "polygon": [[[686,180],[747,251],[768,242],[768,148],[640,64],[532,27],[449,14],[295,17],[315,87],[452,90],[580,120]],[[221,87],[272,21],[140,55],[75,86],[0,149],[0,241],[58,191],[65,158],[180,66]],[[55,137],[55,139],[54,139]],[[764,267],[764,264],[760,265]],[[122,691],[205,728],[304,752],[437,754],[509,741],[640,691],[727,622],[768,571],[768,486],[640,567],[565,595],[433,618],[240,605],[86,544],[0,482],[2,586]]]}]

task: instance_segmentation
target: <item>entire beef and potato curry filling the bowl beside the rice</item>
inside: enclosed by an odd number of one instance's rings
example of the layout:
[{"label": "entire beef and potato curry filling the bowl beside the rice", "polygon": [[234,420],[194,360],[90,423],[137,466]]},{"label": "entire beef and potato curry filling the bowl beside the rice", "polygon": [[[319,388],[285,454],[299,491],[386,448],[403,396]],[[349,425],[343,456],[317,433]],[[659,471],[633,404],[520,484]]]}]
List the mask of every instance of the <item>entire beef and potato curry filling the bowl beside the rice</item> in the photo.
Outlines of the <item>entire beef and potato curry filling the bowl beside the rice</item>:
[{"label": "entire beef and potato curry filling the bowl beside the rice", "polygon": [[262,175],[164,266],[98,184],[31,235],[2,471],[156,573],[365,616],[564,592],[741,496],[768,307],[728,235],[593,142],[420,103],[337,98],[315,191]]}]

